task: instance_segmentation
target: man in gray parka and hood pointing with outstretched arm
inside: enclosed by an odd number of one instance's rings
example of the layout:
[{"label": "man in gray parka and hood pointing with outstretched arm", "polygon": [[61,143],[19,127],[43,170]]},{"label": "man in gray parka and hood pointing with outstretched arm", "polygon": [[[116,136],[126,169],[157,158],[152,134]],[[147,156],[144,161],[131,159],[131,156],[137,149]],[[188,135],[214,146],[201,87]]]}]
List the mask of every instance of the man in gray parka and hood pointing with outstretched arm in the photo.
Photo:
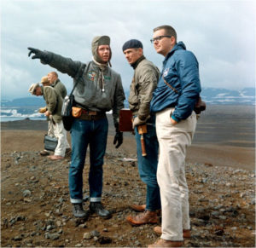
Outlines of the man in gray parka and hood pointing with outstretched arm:
[{"label": "man in gray parka and hood pointing with outstretched arm", "polygon": [[86,218],[89,212],[83,209],[83,170],[85,155],[90,145],[90,212],[102,218],[111,213],[102,206],[103,158],[108,138],[106,112],[113,110],[116,128],[114,144],[118,148],[123,142],[119,131],[119,110],[124,107],[125,94],[120,75],[109,66],[111,59],[110,38],[94,37],[91,43],[93,61],[86,64],[56,55],[48,51],[28,48],[32,59],[67,73],[78,82],[73,91],[72,163],[69,170],[69,192],[73,204],[73,215]]}]

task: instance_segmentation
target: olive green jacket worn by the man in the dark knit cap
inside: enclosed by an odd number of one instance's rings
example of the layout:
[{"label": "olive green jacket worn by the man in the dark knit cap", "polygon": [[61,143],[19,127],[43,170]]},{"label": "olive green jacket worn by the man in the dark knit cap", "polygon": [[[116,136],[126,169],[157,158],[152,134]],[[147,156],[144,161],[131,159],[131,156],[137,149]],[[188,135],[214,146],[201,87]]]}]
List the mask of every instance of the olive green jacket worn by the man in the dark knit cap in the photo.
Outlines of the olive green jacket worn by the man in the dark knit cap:
[{"label": "olive green jacket worn by the man in the dark knit cap", "polygon": [[147,118],[150,113],[150,101],[159,77],[157,66],[146,59],[139,61],[134,70],[128,101],[132,114],[141,120]]}]

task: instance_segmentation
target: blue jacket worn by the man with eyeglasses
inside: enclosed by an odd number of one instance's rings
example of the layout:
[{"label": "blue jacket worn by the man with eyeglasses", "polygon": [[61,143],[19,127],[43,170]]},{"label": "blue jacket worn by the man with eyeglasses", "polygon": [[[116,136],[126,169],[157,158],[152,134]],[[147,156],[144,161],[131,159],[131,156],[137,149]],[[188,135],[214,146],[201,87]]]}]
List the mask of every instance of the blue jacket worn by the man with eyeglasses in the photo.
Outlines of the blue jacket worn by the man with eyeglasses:
[{"label": "blue jacket worn by the man with eyeglasses", "polygon": [[[177,89],[177,93],[165,84],[163,77]],[[167,107],[175,107],[172,118],[179,122],[192,113],[200,92],[198,61],[192,52],[186,50],[183,42],[179,42],[163,62],[163,70],[153,92],[150,110],[160,112]]]}]

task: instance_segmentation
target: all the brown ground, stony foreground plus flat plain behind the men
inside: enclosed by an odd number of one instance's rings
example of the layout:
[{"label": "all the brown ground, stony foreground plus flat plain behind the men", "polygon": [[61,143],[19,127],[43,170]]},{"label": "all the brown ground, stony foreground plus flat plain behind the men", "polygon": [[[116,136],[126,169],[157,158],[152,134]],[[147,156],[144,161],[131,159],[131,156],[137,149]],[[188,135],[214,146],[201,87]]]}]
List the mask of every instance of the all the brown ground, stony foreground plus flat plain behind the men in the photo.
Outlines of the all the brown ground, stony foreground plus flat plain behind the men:
[{"label": "all the brown ground, stony foreground plus flat plain behind the men", "polygon": [[[131,227],[125,221],[137,214],[129,205],[144,204],[146,188],[134,138],[125,134],[115,149],[112,123],[109,117],[102,203],[113,217],[87,221],[72,215],[70,157],[52,162],[39,155],[46,121],[1,123],[2,247],[146,247],[159,238],[154,225]],[[186,174],[192,237],[184,246],[255,247],[255,107],[209,106],[189,147]]]}]

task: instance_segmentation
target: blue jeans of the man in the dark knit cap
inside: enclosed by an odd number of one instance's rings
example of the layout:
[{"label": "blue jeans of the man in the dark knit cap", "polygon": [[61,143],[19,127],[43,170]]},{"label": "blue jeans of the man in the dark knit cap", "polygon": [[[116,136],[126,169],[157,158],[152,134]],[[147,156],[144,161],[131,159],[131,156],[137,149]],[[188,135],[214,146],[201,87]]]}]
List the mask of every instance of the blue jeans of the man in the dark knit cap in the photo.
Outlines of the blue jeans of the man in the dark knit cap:
[{"label": "blue jeans of the man in the dark knit cap", "polygon": [[147,184],[146,210],[156,211],[161,208],[160,188],[156,179],[158,164],[159,144],[155,132],[155,117],[151,117],[147,122],[146,134],[143,134],[147,156],[142,155],[141,135],[135,129],[137,142],[137,164],[139,175],[143,182]]}]

